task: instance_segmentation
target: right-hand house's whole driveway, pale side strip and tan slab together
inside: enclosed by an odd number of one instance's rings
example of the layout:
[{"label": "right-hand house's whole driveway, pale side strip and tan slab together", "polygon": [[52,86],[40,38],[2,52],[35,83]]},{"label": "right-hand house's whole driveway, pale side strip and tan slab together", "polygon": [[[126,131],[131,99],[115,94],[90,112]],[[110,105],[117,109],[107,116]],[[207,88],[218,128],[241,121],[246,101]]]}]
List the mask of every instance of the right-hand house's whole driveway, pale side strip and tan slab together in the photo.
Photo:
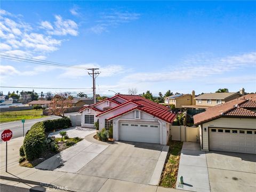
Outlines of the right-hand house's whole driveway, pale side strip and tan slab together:
[{"label": "right-hand house's whole driveway, pale side strip and tan slab together", "polygon": [[176,188],[191,191],[255,191],[256,155],[201,151],[194,142],[184,142]]}]

